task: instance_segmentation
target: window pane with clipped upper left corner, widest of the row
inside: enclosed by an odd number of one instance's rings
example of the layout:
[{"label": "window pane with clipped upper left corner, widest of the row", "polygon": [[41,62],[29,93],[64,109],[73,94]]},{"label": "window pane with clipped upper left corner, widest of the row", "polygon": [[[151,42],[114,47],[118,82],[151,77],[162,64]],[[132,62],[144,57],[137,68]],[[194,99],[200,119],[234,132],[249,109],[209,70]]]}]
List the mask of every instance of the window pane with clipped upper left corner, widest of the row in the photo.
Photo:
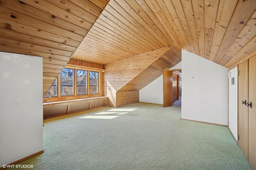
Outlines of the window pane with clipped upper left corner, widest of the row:
[{"label": "window pane with clipped upper left corner, widest of the row", "polygon": [[60,76],[61,96],[74,95],[74,69],[64,68]]}]

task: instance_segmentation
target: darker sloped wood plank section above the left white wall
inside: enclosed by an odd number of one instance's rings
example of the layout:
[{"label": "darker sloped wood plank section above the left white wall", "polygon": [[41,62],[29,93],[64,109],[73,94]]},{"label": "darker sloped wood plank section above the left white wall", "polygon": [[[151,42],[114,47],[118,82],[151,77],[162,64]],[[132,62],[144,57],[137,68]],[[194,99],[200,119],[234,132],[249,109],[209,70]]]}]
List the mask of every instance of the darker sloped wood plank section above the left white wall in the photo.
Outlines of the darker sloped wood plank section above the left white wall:
[{"label": "darker sloped wood plank section above the left white wall", "polygon": [[0,51],[43,57],[43,95],[108,0],[0,0]]}]

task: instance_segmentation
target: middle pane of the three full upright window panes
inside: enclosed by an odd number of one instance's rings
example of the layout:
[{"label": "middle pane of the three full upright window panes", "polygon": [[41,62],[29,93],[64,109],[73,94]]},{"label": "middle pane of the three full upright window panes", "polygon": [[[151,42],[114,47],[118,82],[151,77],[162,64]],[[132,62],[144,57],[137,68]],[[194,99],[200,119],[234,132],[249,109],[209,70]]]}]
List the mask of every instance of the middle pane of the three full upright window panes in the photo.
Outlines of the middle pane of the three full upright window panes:
[{"label": "middle pane of the three full upright window panes", "polygon": [[87,70],[77,70],[77,94],[87,94]]}]

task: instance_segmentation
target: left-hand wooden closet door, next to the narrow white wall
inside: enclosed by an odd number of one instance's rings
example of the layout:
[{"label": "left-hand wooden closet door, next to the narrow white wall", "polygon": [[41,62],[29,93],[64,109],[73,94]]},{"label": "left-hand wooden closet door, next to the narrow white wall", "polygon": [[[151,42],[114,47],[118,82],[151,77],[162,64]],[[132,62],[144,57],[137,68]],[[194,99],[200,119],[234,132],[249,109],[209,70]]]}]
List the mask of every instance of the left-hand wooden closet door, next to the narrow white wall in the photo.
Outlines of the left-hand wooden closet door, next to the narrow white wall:
[{"label": "left-hand wooden closet door, next to the narrow white wall", "polygon": [[238,145],[248,159],[248,60],[238,66]]}]

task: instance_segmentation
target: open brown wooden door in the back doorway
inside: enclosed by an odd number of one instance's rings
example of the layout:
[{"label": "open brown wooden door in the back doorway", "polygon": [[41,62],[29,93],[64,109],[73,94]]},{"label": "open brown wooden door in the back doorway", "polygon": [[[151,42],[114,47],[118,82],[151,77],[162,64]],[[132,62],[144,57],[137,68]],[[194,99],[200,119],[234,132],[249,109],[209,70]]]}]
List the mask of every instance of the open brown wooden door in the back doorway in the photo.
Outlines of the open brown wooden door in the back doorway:
[{"label": "open brown wooden door in the back doorway", "polygon": [[163,70],[163,107],[172,106],[172,71]]}]

